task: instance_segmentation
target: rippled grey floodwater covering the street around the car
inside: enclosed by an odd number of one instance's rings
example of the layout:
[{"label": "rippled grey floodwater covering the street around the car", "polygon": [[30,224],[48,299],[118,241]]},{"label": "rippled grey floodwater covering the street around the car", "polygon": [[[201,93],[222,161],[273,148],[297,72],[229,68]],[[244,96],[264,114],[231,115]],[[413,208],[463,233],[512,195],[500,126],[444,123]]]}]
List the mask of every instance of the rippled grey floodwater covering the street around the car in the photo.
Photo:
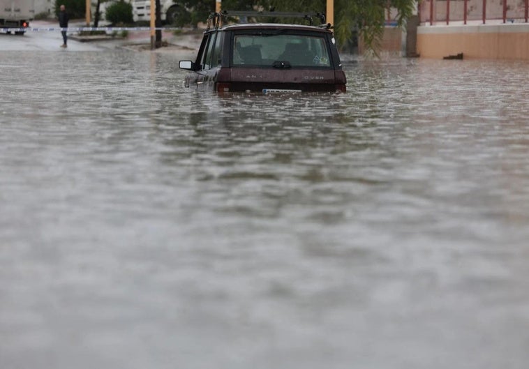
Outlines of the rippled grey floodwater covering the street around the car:
[{"label": "rippled grey floodwater covering the street around the car", "polygon": [[0,54],[1,368],[527,368],[529,63],[179,59]]}]

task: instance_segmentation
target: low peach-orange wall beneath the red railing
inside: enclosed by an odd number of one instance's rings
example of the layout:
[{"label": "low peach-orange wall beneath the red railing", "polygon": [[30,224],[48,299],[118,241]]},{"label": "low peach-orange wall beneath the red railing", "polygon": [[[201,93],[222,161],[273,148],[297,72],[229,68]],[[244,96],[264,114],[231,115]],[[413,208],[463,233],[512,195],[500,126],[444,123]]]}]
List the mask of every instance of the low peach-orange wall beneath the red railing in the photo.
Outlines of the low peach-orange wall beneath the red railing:
[{"label": "low peach-orange wall beneath the red railing", "polygon": [[442,59],[463,53],[465,59],[529,60],[529,24],[422,26],[417,29],[417,53]]}]

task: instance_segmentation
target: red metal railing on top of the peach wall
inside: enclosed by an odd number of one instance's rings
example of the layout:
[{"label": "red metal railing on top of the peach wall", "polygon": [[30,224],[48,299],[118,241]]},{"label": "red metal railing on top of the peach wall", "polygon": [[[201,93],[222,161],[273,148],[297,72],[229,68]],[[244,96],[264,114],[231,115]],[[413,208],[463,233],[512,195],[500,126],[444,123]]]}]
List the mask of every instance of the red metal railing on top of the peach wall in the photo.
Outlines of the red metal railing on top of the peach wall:
[{"label": "red metal railing on top of the peach wall", "polygon": [[487,21],[529,22],[529,0],[424,0],[419,3],[423,24]]}]

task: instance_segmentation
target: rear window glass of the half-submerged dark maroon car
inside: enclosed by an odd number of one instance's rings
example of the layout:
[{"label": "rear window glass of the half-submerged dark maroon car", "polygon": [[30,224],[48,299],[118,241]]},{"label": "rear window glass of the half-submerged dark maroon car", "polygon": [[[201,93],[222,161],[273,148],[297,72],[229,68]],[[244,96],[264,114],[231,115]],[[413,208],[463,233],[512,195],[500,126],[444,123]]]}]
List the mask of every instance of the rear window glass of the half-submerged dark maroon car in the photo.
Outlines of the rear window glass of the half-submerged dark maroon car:
[{"label": "rear window glass of the half-submerged dark maroon car", "polygon": [[234,36],[233,66],[331,66],[325,38],[281,32]]}]

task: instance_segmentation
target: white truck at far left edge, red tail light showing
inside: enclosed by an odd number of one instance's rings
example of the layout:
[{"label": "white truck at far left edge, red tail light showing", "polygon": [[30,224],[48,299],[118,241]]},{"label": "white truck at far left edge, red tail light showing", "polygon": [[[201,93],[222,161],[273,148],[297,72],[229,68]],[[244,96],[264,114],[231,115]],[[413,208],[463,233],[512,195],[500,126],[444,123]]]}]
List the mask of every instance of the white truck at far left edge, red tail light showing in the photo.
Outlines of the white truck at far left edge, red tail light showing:
[{"label": "white truck at far left edge, red tail light showing", "polygon": [[[34,0],[0,0],[0,31],[6,28],[24,29],[35,18]],[[10,31],[4,31],[11,33]],[[25,31],[15,31],[23,35]]]}]

